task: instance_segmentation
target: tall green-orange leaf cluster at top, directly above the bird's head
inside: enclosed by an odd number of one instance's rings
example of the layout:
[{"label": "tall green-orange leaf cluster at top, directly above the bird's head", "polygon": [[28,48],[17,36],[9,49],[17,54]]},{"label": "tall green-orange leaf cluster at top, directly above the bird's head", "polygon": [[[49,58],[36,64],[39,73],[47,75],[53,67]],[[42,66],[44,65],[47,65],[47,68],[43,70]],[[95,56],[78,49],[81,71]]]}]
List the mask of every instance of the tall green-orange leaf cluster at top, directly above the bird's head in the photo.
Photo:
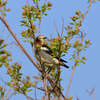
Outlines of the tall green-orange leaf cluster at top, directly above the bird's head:
[{"label": "tall green-orange leaf cluster at top, directly above the bird's head", "polygon": [[[30,42],[31,44],[33,44],[33,41],[30,41],[28,38],[33,38],[33,32],[37,33],[38,30],[36,28],[36,25],[33,24],[37,19],[41,19],[43,15],[47,16],[47,13],[45,13],[47,10],[51,9],[51,6],[53,4],[51,4],[51,2],[48,2],[47,4],[43,4],[41,5],[41,7],[39,7],[39,1],[40,0],[33,0],[33,5],[30,6],[22,6],[23,8],[23,12],[22,12],[22,18],[23,20],[21,21],[21,26],[26,26],[28,27],[27,30],[23,30],[21,35],[23,37],[25,37],[27,40],[25,40],[24,42]],[[32,24],[30,24],[32,23]]]}]

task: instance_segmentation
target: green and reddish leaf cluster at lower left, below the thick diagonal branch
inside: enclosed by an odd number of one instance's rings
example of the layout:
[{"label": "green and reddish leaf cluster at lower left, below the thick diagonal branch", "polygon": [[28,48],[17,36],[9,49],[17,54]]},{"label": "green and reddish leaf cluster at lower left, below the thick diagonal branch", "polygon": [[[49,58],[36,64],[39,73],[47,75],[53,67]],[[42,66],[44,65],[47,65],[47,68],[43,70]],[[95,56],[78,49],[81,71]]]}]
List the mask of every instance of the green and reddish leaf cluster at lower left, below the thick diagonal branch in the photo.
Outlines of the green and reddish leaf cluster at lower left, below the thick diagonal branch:
[{"label": "green and reddish leaf cluster at lower left, below the thick diagonal branch", "polygon": [[34,81],[34,83],[30,80],[29,76],[26,76],[26,78],[22,79],[22,74],[20,73],[21,65],[17,62],[14,63],[12,67],[7,68],[7,74],[11,77],[11,81],[7,82],[8,86],[12,86],[13,84],[13,90],[15,91],[15,94],[26,94],[29,91],[32,91],[31,87],[35,87],[37,85],[37,82]]}]

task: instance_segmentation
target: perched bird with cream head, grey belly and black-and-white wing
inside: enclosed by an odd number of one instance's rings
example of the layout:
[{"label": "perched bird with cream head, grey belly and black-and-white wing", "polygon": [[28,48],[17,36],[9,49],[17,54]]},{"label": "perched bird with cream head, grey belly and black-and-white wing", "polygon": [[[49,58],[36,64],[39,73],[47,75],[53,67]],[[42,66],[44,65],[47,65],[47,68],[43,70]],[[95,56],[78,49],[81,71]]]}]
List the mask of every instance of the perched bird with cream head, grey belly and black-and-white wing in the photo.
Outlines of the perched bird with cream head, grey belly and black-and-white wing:
[{"label": "perched bird with cream head, grey belly and black-and-white wing", "polygon": [[39,35],[36,38],[35,44],[41,45],[41,47],[38,50],[35,48],[35,56],[36,56],[37,60],[40,62],[40,57],[41,57],[41,63],[44,66],[50,67],[51,69],[54,68],[54,66],[57,66],[59,64],[61,66],[69,68],[69,66],[64,64],[64,62],[67,63],[67,61],[65,61],[63,59],[59,60],[58,57],[52,58],[53,57],[53,55],[52,55],[53,51],[47,45],[45,45],[45,39],[46,38],[47,37],[44,37],[43,35]]}]

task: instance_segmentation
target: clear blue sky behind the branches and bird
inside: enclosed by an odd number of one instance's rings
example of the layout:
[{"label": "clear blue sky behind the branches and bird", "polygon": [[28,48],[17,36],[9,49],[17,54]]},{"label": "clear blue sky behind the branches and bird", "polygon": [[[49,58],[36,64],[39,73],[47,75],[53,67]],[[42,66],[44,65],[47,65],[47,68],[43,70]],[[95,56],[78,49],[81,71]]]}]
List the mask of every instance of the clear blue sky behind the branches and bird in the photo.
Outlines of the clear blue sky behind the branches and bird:
[{"label": "clear blue sky behind the branches and bird", "polygon": [[[44,2],[44,0],[41,0]],[[88,0],[47,0],[53,3],[50,11],[47,11],[48,16],[43,16],[41,22],[41,34],[50,38],[50,34],[53,37],[57,37],[57,32],[54,26],[54,20],[56,22],[59,33],[62,32],[62,17],[64,19],[64,26],[67,26],[70,22],[73,15],[75,15],[75,11],[78,9],[82,13],[85,13],[89,3]],[[41,3],[43,3],[41,2]],[[30,5],[32,0],[29,0]],[[27,4],[26,0],[8,0],[7,7],[11,9],[9,13],[6,13],[6,20],[10,25],[11,29],[15,34],[17,34],[18,39],[21,38],[20,33],[22,30],[26,28],[20,26],[22,20],[21,12],[23,11],[22,6]],[[0,14],[1,16],[1,14]],[[38,28],[38,23],[37,28]],[[3,30],[4,24],[0,21],[0,36]],[[96,0],[96,3],[93,3],[90,7],[88,14],[86,15],[84,21],[82,22],[82,26],[80,27],[81,31],[85,31],[86,36],[85,40],[90,40],[92,45],[86,51],[81,52],[80,56],[86,56],[88,59],[85,65],[80,64],[76,67],[74,77],[72,79],[71,87],[68,93],[68,96],[73,96],[72,100],[76,100],[76,95],[80,100],[92,100],[92,97],[86,92],[86,89],[89,91],[92,90],[93,87],[96,86],[94,92],[94,99],[100,100],[100,2]],[[3,39],[5,39],[9,34],[7,28],[4,30]],[[36,33],[38,35],[38,33]],[[66,35],[66,30],[64,30],[64,34]],[[10,35],[7,43],[11,43],[14,41],[13,37]],[[75,41],[73,38],[72,41]],[[29,43],[21,43],[26,48],[28,53],[34,59],[31,45]],[[10,46],[7,47],[10,50]],[[69,69],[62,68],[63,72],[61,74],[61,78],[63,81],[61,85],[64,88],[64,95],[66,94],[67,87],[69,84],[69,80],[72,73],[72,67],[74,65],[73,61],[69,60],[72,54],[72,50],[69,49],[68,54],[64,57],[65,60],[68,61]],[[30,60],[23,54],[17,46],[13,45],[12,47],[12,55],[13,62],[22,63],[21,72],[23,72],[23,77],[26,75],[32,76],[38,74],[38,70],[32,65]],[[6,68],[0,69],[0,77],[6,82],[9,81],[9,76],[6,75]],[[33,78],[31,79],[33,80]],[[4,85],[4,83],[0,80],[0,85]],[[39,87],[43,86],[43,84],[39,83]],[[7,90],[9,89],[6,87]],[[34,89],[33,92],[28,93],[29,96],[34,98]],[[41,91],[36,91],[36,95],[38,99],[41,99],[43,93]],[[23,95],[15,95],[10,98],[10,100],[26,100],[26,97]]]}]

